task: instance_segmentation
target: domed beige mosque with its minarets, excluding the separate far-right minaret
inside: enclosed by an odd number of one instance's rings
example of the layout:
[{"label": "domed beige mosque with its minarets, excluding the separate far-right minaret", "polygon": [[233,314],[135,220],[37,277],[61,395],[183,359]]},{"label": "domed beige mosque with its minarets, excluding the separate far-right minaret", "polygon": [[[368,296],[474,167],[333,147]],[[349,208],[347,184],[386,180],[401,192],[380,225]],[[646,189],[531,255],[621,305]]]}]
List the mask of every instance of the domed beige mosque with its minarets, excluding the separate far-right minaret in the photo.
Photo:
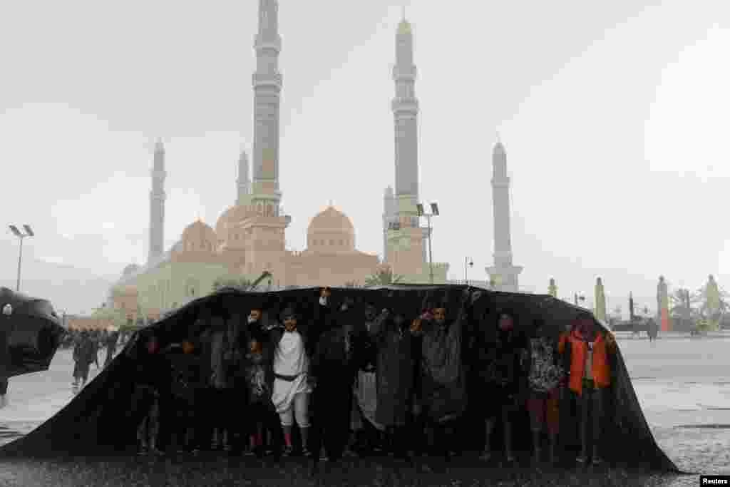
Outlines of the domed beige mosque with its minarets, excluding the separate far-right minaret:
[{"label": "domed beige mosque with its minarets, excluding the separate far-right minaret", "polygon": [[[150,192],[150,245],[144,266],[126,266],[112,286],[107,306],[128,317],[157,318],[212,291],[216,280],[255,280],[272,274],[270,288],[364,284],[383,268],[408,283],[446,283],[448,264],[429,265],[429,230],[418,215],[418,100],[410,23],[401,20],[393,66],[395,97],[391,103],[395,129],[395,190],[385,190],[383,261],[356,248],[355,227],[333,206],[312,218],[307,248],[285,248],[291,217],[284,215],[279,188],[279,113],[283,86],[278,68],[281,37],[278,1],[260,0],[253,74],[253,180],[246,153],[239,158],[237,201],[225,210],[215,229],[194,221],[169,250],[164,250],[166,194],[165,149],[155,145]],[[431,277],[432,273],[432,277]],[[432,279],[432,281],[431,281]]]}]

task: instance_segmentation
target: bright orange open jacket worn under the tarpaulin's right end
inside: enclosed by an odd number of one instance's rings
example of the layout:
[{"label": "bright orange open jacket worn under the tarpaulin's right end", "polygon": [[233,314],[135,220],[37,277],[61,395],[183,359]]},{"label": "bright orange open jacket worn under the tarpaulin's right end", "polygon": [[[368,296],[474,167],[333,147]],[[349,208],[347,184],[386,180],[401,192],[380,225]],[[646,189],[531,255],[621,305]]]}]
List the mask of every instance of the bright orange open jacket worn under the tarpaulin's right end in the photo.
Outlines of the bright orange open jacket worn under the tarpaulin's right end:
[{"label": "bright orange open jacket worn under the tarpaulin's right end", "polygon": [[[583,375],[585,374],[585,353],[588,344],[571,334],[563,334],[558,342],[558,353],[564,353],[566,345],[570,346],[570,379],[569,387],[577,394],[583,391]],[[613,335],[599,333],[593,342],[593,381],[597,388],[611,385],[611,368],[609,353],[613,353],[615,341]]]}]

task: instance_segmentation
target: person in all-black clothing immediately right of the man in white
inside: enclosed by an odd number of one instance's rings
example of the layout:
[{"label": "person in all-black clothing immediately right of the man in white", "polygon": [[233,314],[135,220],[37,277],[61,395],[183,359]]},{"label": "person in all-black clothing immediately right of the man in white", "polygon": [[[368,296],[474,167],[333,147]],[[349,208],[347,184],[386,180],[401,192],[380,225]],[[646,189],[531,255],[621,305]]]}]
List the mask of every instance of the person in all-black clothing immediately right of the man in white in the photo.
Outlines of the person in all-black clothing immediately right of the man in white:
[{"label": "person in all-black clothing immediately right of the man in white", "polygon": [[[342,458],[350,440],[353,407],[353,382],[357,372],[354,333],[362,311],[353,299],[345,298],[335,307],[328,328],[321,331],[312,356],[312,376],[316,377],[314,391],[315,434],[312,451],[324,447],[326,458]],[[315,459],[315,462],[319,459]]]}]

